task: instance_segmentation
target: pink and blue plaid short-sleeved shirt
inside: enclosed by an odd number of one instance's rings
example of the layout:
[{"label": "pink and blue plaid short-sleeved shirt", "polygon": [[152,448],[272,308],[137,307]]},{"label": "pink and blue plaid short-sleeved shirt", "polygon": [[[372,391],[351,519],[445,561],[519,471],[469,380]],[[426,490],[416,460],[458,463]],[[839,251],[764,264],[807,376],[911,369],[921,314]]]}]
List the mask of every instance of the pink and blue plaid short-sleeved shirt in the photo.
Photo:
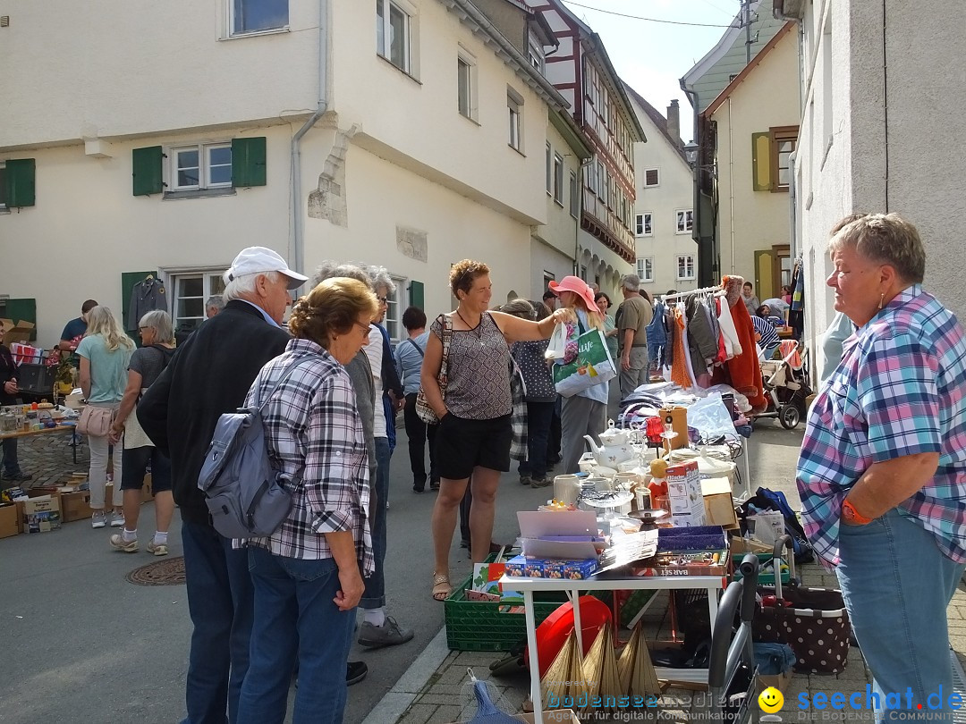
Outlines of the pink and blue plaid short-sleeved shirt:
[{"label": "pink and blue plaid short-sleeved shirt", "polygon": [[939,453],[936,474],[897,508],[966,562],[966,337],[939,301],[914,285],[843,345],[815,398],[798,460],[805,532],[838,565],[845,495],[873,462]]}]

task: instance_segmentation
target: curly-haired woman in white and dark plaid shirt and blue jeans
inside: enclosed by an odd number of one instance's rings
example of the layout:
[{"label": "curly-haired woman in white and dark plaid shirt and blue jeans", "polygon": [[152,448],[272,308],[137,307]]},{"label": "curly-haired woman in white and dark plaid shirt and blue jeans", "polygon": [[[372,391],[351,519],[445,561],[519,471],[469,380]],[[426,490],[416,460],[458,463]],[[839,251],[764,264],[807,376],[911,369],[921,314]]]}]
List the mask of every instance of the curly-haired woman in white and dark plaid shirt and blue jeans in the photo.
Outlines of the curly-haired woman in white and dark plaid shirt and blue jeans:
[{"label": "curly-haired woman in white and dark plaid shirt and blue jeans", "polygon": [[268,403],[262,417],[269,457],[293,506],[268,538],[236,542],[248,544],[255,591],[237,724],[285,720],[297,657],[292,721],[342,721],[355,606],[362,575],[374,570],[369,460],[343,365],[366,344],[377,309],[363,282],[320,283],[293,308],[295,339],[248,391],[246,406]]}]

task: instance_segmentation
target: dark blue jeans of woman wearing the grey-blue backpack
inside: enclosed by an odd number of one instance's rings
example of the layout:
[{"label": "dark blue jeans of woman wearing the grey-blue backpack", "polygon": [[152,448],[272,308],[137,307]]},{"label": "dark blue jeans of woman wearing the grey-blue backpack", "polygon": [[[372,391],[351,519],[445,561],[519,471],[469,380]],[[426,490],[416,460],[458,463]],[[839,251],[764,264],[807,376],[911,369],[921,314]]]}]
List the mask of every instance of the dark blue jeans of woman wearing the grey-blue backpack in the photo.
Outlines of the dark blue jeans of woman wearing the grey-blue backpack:
[{"label": "dark blue jeans of woman wearing the grey-blue backpack", "polygon": [[340,724],[355,609],[340,611],[335,561],[286,558],[248,549],[255,587],[251,663],[241,687],[238,724],[281,724],[298,656],[293,724]]}]

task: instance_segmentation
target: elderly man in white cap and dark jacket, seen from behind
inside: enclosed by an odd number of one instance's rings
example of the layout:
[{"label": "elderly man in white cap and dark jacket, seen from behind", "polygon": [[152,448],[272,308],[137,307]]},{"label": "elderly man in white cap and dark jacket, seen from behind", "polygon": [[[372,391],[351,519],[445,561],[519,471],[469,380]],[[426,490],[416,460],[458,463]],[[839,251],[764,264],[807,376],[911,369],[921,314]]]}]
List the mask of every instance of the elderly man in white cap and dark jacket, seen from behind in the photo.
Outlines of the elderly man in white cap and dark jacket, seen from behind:
[{"label": "elderly man in white cap and dark jacket, seen from behind", "polygon": [[263,246],[243,249],[225,272],[225,308],[178,348],[144,394],[137,418],[171,460],[182,515],[188,608],[187,724],[235,721],[248,669],[253,593],[248,553],[212,527],[198,473],[223,412],[244,404],[262,367],[290,339],[282,318],[308,278]]}]

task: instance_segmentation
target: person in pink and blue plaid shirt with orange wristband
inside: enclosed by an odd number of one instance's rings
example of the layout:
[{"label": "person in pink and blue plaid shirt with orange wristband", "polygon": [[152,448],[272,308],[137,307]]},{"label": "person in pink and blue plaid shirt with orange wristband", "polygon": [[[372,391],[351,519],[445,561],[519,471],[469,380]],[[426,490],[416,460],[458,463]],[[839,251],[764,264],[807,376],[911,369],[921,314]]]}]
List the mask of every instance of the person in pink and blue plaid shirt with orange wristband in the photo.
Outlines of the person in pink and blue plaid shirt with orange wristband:
[{"label": "person in pink and blue plaid shirt with orange wristband", "polygon": [[838,575],[877,715],[952,720],[946,611],[966,563],[966,336],[923,290],[912,224],[849,216],[829,250],[835,309],[858,329],[811,406],[797,471],[805,530]]}]

